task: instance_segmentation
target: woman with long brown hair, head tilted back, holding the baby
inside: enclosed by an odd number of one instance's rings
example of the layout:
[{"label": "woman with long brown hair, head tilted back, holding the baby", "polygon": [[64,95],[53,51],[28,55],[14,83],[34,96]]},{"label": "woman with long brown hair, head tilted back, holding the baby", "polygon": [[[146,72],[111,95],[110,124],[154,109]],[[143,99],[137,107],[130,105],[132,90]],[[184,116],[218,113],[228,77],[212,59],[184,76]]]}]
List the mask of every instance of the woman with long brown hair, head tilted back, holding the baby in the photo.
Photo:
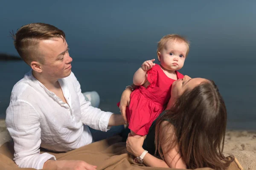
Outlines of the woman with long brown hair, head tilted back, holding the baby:
[{"label": "woman with long brown hair, head tilted back, holding the baby", "polygon": [[[129,93],[123,93],[120,108],[126,107]],[[222,154],[226,124],[226,106],[215,83],[185,76],[173,83],[166,111],[146,138],[129,134],[126,146],[135,161],[151,167],[225,170],[233,161]]]}]

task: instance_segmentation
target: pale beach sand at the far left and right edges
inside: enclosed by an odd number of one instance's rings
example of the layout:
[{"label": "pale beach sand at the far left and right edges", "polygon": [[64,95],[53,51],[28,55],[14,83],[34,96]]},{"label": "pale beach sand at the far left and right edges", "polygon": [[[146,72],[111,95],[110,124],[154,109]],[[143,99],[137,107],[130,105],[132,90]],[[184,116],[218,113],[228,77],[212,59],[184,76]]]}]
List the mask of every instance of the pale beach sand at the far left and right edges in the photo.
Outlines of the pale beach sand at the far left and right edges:
[{"label": "pale beach sand at the far left and right edges", "polygon": [[[0,146],[11,140],[4,119],[0,119]],[[244,170],[256,170],[256,131],[227,130],[224,155],[233,154]]]}]

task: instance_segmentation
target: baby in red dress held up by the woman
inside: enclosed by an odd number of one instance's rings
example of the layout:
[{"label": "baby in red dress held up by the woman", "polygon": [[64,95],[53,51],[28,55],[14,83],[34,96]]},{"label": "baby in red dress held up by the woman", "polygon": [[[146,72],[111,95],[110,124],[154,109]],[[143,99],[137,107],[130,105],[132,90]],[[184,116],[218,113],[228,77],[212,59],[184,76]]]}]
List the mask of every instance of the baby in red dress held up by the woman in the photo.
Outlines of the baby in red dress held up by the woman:
[{"label": "baby in red dress held up by the woman", "polygon": [[[164,36],[157,45],[157,58],[143,62],[133,77],[138,85],[131,94],[126,109],[128,128],[137,138],[148,134],[152,122],[163,112],[171,97],[172,83],[184,76],[177,70],[183,67],[189,53],[189,41],[177,34]],[[118,104],[119,106],[119,104]]]}]

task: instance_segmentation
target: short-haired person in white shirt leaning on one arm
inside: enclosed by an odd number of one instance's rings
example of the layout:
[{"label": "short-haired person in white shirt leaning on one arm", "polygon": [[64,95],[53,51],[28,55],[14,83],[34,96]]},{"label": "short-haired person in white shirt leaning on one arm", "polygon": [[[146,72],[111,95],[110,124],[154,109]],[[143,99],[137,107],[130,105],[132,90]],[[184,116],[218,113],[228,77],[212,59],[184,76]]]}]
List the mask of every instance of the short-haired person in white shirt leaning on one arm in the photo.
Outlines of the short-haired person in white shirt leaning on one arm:
[{"label": "short-haired person in white shirt leaning on one arm", "polygon": [[[40,154],[39,147],[67,152],[113,136],[123,129],[122,115],[94,108],[85,99],[93,98],[93,94],[81,93],[71,71],[72,58],[63,31],[49,24],[31,23],[22,26],[13,38],[20,57],[32,68],[13,87],[6,110],[15,163],[36,169],[95,170],[96,166],[84,161],[56,161],[49,153]],[[111,126],[117,129],[112,127],[110,132]],[[105,134],[97,136],[92,129]]]}]

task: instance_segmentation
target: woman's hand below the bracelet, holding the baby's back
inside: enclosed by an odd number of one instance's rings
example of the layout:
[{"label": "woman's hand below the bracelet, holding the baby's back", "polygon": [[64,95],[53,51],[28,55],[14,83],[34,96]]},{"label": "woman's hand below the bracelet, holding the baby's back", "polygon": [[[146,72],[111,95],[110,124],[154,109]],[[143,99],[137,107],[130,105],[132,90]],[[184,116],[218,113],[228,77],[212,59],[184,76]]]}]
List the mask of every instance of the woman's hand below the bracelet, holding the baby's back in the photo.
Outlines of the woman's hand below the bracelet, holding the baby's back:
[{"label": "woman's hand below the bracelet, holding the baby's back", "polygon": [[130,95],[131,95],[131,88],[128,87],[126,88],[123,93],[122,93],[122,96],[121,96],[121,99],[120,99],[120,105],[119,105],[119,109],[120,109],[120,112],[123,116],[123,119],[125,120],[125,123],[127,124],[127,119],[126,119],[126,107],[130,105]]}]

